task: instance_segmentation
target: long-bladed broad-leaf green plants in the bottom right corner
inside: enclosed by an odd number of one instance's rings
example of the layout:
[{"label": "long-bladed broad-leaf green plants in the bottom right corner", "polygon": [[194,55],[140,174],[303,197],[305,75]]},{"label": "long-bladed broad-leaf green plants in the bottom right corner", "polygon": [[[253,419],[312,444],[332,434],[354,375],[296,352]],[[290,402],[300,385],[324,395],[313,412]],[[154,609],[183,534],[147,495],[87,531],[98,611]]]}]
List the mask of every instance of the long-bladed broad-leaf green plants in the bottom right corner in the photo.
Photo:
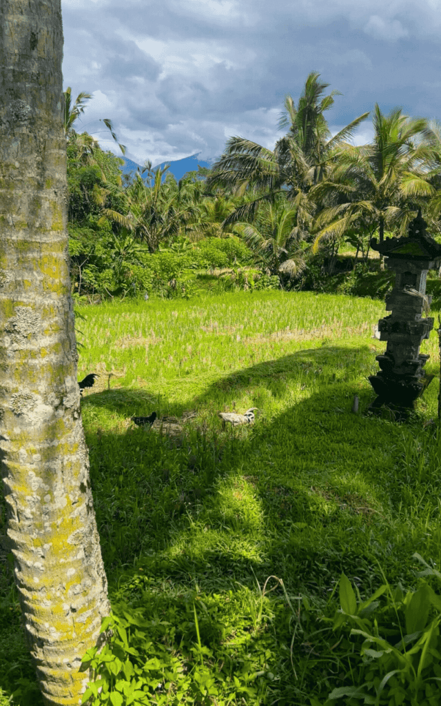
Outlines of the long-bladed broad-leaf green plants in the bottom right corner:
[{"label": "long-bladed broad-leaf green plants in the bottom right corner", "polygon": [[[425,563],[419,554],[413,556]],[[424,575],[441,578],[425,566]],[[352,683],[334,688],[326,705],[345,698],[346,704],[354,706],[437,706],[441,700],[441,597],[424,580],[418,590],[406,594],[401,587],[392,591],[386,582],[365,601],[358,587],[356,591],[358,600],[342,573],[341,607],[333,628],[344,635],[340,650],[348,650],[342,664],[346,662],[349,669],[342,681]],[[311,699],[312,706],[318,703]]]}]

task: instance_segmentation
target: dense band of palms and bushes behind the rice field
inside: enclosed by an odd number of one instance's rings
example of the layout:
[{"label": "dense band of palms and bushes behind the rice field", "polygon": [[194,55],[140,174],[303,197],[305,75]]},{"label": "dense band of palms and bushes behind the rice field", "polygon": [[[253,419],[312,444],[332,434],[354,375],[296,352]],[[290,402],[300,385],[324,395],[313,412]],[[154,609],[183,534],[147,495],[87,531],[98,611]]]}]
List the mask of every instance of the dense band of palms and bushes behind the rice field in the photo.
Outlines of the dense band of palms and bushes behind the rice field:
[{"label": "dense band of palms and bushes behind the rice field", "polygon": [[[333,138],[324,112],[335,91],[310,73],[298,101],[286,97],[289,128],[273,152],[231,138],[211,169],[188,172],[179,183],[167,169],[122,178],[121,160],[73,129],[81,100],[66,110],[68,232],[75,297],[158,293],[191,296],[209,270],[234,287],[335,289],[332,263],[342,244],[356,250],[354,270],[338,282],[356,291],[366,273],[370,238],[404,234],[421,207],[430,232],[440,232],[441,130],[409,119],[401,109],[385,116],[376,105],[371,145],[346,142],[365,113]],[[105,121],[111,129],[110,121]],[[112,132],[116,140],[116,136]],[[123,145],[119,145],[123,151]],[[147,172],[147,178],[142,175]],[[345,246],[346,247],[346,246]],[[160,253],[160,254],[159,254]],[[166,254],[168,253],[168,254]],[[366,267],[356,267],[358,255]],[[252,270],[248,273],[245,270]],[[332,277],[332,284],[326,280]],[[342,278],[340,278],[342,279]],[[363,287],[361,287],[363,289]]]}]

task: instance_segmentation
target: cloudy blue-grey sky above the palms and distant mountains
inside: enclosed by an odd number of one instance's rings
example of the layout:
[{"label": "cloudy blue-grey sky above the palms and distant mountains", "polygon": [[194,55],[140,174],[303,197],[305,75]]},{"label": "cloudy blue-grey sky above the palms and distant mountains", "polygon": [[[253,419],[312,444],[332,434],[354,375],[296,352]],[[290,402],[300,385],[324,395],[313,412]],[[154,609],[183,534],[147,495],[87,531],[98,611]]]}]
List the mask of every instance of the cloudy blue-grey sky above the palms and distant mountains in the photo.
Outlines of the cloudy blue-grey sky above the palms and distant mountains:
[{"label": "cloudy blue-grey sky above the palms and distant mountains", "polygon": [[[64,90],[92,99],[75,124],[143,164],[199,152],[210,164],[230,136],[271,150],[284,98],[310,71],[339,90],[334,134],[363,112],[354,143],[384,113],[441,120],[441,0],[61,0]],[[100,132],[102,131],[102,132]]]}]

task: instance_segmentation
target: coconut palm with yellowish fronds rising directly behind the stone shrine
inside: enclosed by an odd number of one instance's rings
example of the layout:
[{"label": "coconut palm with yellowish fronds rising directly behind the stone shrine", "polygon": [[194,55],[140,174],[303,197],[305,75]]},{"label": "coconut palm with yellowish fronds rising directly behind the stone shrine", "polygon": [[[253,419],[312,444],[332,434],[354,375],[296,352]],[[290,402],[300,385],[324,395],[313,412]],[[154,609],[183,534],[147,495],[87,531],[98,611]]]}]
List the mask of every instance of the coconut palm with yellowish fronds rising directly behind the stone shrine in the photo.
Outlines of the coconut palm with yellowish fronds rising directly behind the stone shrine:
[{"label": "coconut palm with yellowish fronds rising directly behind the stone shrine", "polygon": [[401,108],[385,116],[375,104],[373,128],[373,143],[343,145],[329,178],[310,191],[311,198],[328,202],[315,221],[314,252],[322,239],[343,237],[359,217],[379,229],[380,243],[385,226],[404,234],[421,200],[435,196],[429,183],[433,172],[425,166],[434,159],[435,136],[428,121],[409,119]]}]

